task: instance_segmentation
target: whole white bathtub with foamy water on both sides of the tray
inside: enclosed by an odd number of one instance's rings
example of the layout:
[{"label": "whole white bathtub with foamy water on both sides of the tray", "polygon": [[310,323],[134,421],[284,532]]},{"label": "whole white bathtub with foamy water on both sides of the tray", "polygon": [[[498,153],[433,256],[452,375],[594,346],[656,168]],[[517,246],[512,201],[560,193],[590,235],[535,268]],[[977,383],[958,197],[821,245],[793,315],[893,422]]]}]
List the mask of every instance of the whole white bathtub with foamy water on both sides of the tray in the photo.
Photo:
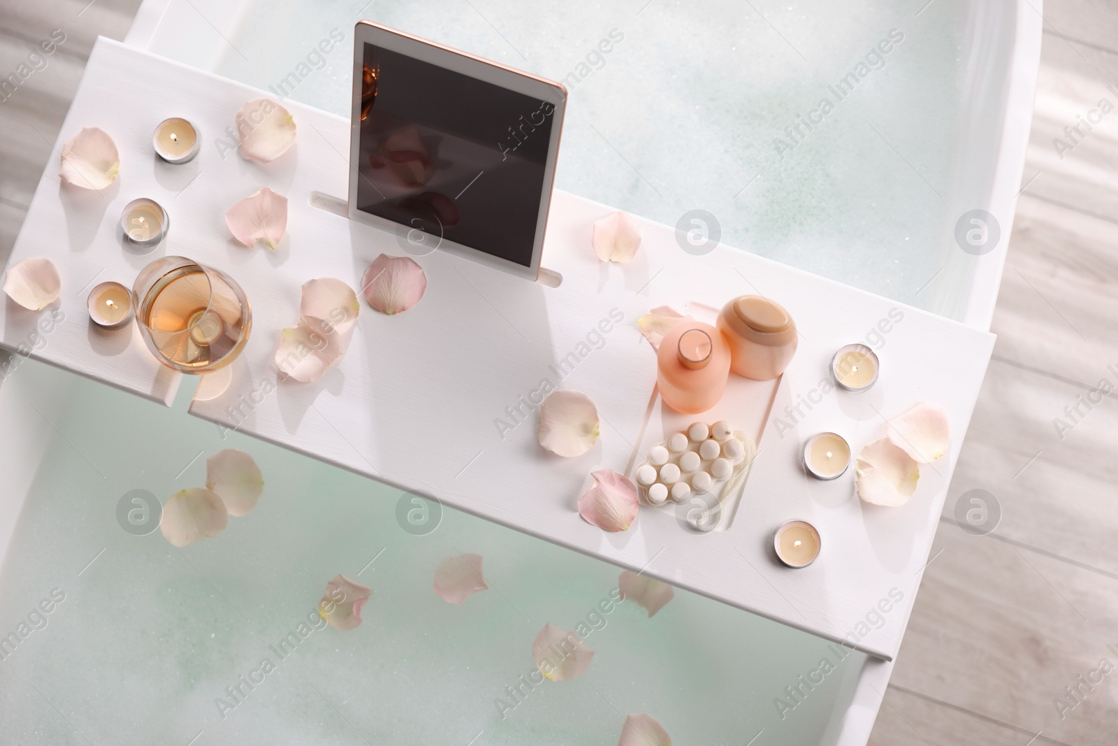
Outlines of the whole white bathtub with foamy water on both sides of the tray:
[{"label": "whole white bathtub with foamy water on both sides of the tray", "polygon": [[[600,68],[568,85],[560,187],[667,224],[707,209],[723,243],[988,328],[1040,53],[1030,3],[756,3],[764,18],[666,0],[609,11],[383,4],[366,17],[557,78],[577,75],[599,37],[623,29]],[[146,0],[127,41],[267,88],[331,29],[350,41],[357,10]],[[893,28],[904,39],[884,65],[780,159],[773,139]],[[347,48],[332,55],[292,95],[345,113]],[[1002,233],[980,255],[954,235],[974,209]],[[199,746],[613,744],[624,715],[638,711],[676,743],[869,738],[891,663],[850,653],[796,701],[786,688],[835,657],[825,641],[679,591],[652,620],[632,604],[604,617],[587,640],[591,686],[525,690],[502,716],[505,684],[532,667],[525,641],[546,621],[584,618],[616,586],[616,568],[451,511],[435,532],[409,535],[396,491],[224,440],[186,416],[189,391],[165,409],[12,361],[0,383],[0,639],[51,589],[66,595],[44,629],[0,648],[0,731],[20,743],[78,743],[76,730],[93,743]],[[222,447],[250,451],[267,482],[257,511],[231,521],[222,541],[178,551],[158,531],[121,528],[127,491],[198,485],[205,456]],[[437,560],[457,550],[482,554],[491,582],[461,608],[429,587]],[[361,627],[314,632],[235,708],[217,706],[314,610],[325,579],[375,556],[360,576],[376,592]],[[795,707],[781,712],[778,700]]]}]

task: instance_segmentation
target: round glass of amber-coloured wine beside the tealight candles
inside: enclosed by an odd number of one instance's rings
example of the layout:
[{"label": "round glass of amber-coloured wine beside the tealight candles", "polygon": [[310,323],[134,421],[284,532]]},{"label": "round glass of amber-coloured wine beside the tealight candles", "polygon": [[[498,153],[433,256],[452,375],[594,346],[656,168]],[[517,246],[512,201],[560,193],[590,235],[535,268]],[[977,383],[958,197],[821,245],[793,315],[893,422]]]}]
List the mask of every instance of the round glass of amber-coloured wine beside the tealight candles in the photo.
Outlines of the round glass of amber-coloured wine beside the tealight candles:
[{"label": "round glass of amber-coloured wine beside the tealight candles", "polygon": [[176,370],[217,370],[233,362],[248,341],[248,300],[240,285],[218,270],[167,256],[144,267],[132,298],[144,342]]}]

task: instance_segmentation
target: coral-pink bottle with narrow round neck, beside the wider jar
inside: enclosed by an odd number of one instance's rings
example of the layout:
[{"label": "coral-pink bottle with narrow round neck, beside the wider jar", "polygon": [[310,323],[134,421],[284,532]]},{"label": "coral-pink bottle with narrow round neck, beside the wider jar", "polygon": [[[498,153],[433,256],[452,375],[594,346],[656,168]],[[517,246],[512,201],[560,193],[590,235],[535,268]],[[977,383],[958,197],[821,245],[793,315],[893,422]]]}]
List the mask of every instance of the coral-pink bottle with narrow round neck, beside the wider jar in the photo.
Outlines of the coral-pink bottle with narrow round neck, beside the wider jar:
[{"label": "coral-pink bottle with narrow round neck, beside the wider jar", "polygon": [[664,404],[694,415],[722,398],[730,376],[730,348],[722,332],[701,321],[672,327],[656,352],[656,385]]}]

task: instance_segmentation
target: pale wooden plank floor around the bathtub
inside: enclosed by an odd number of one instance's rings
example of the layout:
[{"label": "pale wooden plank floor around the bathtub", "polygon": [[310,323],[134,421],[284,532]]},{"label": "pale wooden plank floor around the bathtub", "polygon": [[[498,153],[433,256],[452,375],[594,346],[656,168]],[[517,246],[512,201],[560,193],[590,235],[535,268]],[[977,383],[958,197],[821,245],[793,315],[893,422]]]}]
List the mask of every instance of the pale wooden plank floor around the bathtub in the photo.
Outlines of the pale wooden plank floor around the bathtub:
[{"label": "pale wooden plank floor around the bathtub", "polygon": [[[53,29],[67,37],[0,102],[0,261],[94,38],[123,38],[138,6],[0,0],[0,74]],[[1101,379],[1118,387],[1118,108],[1062,158],[1052,144],[1100,98],[1118,106],[1118,4],[1049,0],[1044,13],[997,347],[874,746],[1118,744],[1118,654],[1107,648],[1118,650],[1118,406],[1079,398]],[[1053,419],[1077,405],[1058,433]],[[953,519],[956,499],[979,488],[1002,509],[980,537]],[[1080,684],[1101,659],[1115,671]],[[1054,699],[1069,686],[1084,693],[1061,714]]]}]

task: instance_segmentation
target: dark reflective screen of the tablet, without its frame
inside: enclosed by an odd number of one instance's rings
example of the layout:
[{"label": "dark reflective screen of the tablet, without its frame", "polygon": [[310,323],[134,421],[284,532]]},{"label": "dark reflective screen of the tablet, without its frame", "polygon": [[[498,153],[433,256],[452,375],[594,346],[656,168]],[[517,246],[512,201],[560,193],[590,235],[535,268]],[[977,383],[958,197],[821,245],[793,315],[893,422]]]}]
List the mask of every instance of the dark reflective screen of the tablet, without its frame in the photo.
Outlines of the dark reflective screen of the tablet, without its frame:
[{"label": "dark reflective screen of the tablet, without its frame", "polygon": [[[531,266],[555,106],[364,45],[357,207]],[[550,185],[547,185],[550,188]]]}]

